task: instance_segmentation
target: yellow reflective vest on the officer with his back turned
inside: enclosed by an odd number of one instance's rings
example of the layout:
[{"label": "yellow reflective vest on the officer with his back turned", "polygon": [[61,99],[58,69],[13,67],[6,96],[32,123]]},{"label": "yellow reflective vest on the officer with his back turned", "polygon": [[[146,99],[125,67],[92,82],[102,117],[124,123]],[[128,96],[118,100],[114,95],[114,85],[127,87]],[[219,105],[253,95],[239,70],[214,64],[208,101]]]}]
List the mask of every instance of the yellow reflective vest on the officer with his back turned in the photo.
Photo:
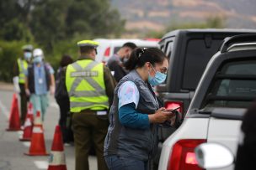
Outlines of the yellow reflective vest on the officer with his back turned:
[{"label": "yellow reflective vest on the officer with his back turned", "polygon": [[71,112],[109,109],[109,98],[104,85],[104,64],[91,59],[77,60],[69,64],[66,71],[66,86]]}]

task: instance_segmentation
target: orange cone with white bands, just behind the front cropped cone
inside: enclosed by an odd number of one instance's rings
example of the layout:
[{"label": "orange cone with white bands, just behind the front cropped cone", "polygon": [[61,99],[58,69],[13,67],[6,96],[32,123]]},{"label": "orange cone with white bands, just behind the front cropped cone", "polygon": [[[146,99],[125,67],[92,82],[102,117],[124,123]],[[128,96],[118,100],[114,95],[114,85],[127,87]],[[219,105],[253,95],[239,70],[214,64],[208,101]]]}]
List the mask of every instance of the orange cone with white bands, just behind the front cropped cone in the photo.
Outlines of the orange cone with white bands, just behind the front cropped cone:
[{"label": "orange cone with white bands, just behind the front cropped cone", "polygon": [[31,145],[29,153],[24,153],[29,156],[46,156],[49,155],[45,150],[45,137],[43,126],[40,124],[40,111],[36,113],[35,123],[32,131]]}]

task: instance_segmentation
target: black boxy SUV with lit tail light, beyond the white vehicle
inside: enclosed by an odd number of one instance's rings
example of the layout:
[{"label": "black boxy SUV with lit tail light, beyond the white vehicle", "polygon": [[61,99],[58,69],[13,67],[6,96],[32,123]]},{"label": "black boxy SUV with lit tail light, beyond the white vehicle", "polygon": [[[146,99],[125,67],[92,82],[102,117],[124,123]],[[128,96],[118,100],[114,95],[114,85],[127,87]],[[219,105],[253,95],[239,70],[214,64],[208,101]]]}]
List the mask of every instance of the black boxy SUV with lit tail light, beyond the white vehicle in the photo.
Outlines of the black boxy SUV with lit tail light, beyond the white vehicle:
[{"label": "black boxy SUV with lit tail light, beyond the white vehicle", "polygon": [[[179,29],[165,34],[159,45],[168,55],[168,77],[163,85],[156,88],[163,106],[168,109],[180,106],[179,111],[184,115],[206,64],[220,49],[223,39],[244,33],[256,33],[256,30]],[[173,127],[159,128],[159,141],[163,142],[173,131]]]}]

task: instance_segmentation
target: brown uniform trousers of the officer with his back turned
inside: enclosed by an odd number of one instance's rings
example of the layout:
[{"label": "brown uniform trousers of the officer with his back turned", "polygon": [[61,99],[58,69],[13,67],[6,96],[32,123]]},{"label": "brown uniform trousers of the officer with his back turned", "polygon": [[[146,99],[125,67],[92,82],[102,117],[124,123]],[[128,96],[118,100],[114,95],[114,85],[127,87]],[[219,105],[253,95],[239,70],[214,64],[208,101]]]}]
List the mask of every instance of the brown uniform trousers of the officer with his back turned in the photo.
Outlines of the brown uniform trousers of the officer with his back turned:
[{"label": "brown uniform trousers of the officer with his back turned", "polygon": [[96,111],[72,113],[72,126],[75,139],[76,170],[88,170],[88,155],[93,143],[98,160],[98,169],[107,170],[104,161],[104,138],[108,131],[108,116],[97,116]]}]

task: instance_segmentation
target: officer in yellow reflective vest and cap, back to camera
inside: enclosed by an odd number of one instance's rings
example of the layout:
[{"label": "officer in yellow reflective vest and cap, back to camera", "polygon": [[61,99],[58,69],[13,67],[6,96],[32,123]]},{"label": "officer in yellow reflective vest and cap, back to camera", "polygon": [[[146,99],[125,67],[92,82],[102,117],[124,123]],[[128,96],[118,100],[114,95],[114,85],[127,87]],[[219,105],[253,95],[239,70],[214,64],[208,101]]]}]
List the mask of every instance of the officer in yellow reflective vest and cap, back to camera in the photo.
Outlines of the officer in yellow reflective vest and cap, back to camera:
[{"label": "officer in yellow reflective vest and cap, back to camera", "polygon": [[97,42],[77,43],[80,57],[67,65],[66,86],[72,112],[76,170],[88,169],[88,153],[93,142],[98,169],[108,169],[104,162],[104,137],[108,131],[108,110],[113,100],[115,80],[110,70],[94,61]]}]

